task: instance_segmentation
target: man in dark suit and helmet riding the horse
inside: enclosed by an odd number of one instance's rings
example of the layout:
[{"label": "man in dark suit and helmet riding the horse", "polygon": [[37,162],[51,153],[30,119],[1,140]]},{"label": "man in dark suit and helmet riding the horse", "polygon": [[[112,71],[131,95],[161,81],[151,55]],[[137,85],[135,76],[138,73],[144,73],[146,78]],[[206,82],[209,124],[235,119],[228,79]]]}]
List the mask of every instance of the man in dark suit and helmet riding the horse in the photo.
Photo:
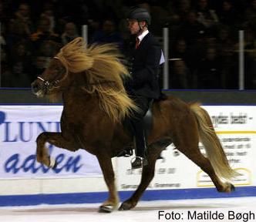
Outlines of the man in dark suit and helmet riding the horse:
[{"label": "man in dark suit and helmet riding the horse", "polygon": [[[145,158],[146,144],[143,132],[143,116],[153,99],[160,99],[158,75],[160,71],[160,44],[149,32],[150,13],[145,8],[133,7],[127,15],[130,34],[136,40],[130,49],[130,81],[125,82],[126,91],[140,107],[131,119],[133,136],[136,142],[136,157],[132,160],[132,169],[147,165]],[[135,43],[135,44],[134,44]]]}]

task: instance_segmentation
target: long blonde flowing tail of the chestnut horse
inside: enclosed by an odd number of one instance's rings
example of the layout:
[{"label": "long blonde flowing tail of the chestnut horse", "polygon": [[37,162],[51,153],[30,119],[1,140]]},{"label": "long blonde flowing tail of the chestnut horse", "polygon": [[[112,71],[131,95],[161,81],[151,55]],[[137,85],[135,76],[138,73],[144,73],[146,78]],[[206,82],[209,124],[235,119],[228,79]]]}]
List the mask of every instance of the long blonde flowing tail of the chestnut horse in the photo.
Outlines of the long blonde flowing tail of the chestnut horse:
[{"label": "long blonde flowing tail of the chestnut horse", "polygon": [[211,117],[207,111],[201,108],[199,103],[190,104],[190,109],[197,118],[200,142],[203,143],[207,153],[207,158],[214,167],[214,171],[217,176],[226,180],[231,180],[231,178],[239,175],[231,169],[227,161],[227,156],[221,146],[221,141],[218,139],[214,131]]}]

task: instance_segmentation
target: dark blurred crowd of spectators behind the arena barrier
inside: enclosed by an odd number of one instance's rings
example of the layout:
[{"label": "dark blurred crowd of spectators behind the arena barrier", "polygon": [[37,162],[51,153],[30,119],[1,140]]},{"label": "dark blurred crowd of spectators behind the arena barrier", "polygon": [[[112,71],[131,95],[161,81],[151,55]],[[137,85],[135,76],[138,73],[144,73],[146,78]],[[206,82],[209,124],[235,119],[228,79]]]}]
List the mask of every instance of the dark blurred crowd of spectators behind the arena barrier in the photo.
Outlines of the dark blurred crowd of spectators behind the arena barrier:
[{"label": "dark blurred crowd of spectators behind the arena barrier", "polygon": [[1,86],[30,87],[82,25],[89,43],[115,42],[125,53],[132,5],[150,11],[160,42],[170,30],[170,89],[237,89],[239,30],[245,89],[256,89],[256,0],[0,0]]}]

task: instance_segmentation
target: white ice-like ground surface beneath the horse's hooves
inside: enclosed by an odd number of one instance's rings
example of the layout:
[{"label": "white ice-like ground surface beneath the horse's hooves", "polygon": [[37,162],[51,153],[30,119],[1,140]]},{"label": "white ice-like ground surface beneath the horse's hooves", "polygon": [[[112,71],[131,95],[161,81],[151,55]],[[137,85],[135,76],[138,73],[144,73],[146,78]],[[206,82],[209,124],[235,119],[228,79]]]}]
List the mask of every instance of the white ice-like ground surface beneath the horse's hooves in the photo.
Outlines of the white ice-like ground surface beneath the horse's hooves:
[{"label": "white ice-like ground surface beneath the horse's hooves", "polygon": [[[32,207],[0,207],[1,222],[150,222],[150,221],[256,221],[256,197],[234,197],[200,200],[140,201],[128,211],[98,213],[100,204],[39,205]],[[160,212],[161,211],[161,212]],[[234,212],[234,213],[233,213]],[[159,215],[164,216],[159,216]],[[180,218],[175,219],[172,215]],[[188,218],[190,214],[190,218]],[[206,219],[195,219],[204,214]],[[224,215],[210,219],[209,214]],[[231,214],[230,218],[228,214]],[[236,218],[233,218],[236,215]],[[207,216],[208,215],[208,216]],[[250,217],[250,218],[249,218]]]}]

